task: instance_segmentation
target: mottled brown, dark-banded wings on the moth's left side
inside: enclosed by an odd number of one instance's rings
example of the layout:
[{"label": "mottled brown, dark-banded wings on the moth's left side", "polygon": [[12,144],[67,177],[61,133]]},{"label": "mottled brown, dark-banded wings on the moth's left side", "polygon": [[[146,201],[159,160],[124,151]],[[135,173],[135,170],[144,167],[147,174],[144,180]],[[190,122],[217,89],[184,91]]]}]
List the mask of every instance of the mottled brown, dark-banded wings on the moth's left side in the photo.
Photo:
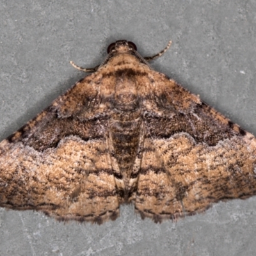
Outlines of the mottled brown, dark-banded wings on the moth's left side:
[{"label": "mottled brown, dark-banded wings on the moth's left side", "polygon": [[101,76],[86,77],[0,143],[0,206],[101,223],[119,214]]}]

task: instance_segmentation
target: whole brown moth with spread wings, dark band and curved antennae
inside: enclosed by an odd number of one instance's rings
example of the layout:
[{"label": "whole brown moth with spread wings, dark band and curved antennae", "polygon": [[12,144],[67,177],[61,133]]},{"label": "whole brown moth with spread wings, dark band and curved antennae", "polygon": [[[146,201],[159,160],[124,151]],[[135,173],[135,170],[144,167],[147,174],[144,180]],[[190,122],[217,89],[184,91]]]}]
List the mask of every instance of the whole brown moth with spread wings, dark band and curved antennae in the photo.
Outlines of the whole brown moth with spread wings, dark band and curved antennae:
[{"label": "whole brown moth with spread wings, dark band and curved antennae", "polygon": [[256,140],[166,75],[132,42],[0,143],[0,206],[57,220],[156,223],[256,194]]}]

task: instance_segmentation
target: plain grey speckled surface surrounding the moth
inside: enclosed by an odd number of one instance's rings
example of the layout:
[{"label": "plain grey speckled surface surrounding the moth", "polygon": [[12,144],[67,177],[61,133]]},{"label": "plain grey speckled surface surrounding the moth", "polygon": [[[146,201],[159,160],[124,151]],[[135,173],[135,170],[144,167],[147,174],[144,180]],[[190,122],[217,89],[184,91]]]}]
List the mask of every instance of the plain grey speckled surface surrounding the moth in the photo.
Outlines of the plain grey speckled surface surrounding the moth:
[{"label": "plain grey speckled surface surrounding the moth", "polygon": [[[152,67],[256,134],[256,1],[0,1],[0,139],[131,40]],[[0,209],[0,255],[255,255],[256,197],[161,225],[132,205],[103,225]]]}]

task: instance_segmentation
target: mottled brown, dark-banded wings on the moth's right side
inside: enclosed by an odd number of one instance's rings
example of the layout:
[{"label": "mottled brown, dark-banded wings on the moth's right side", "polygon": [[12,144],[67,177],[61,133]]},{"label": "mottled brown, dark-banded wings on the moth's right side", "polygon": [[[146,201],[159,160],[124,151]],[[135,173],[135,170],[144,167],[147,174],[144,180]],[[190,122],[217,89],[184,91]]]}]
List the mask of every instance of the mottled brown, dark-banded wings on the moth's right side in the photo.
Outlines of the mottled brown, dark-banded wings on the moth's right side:
[{"label": "mottled brown, dark-banded wings on the moth's right side", "polygon": [[135,202],[141,216],[161,221],[256,195],[253,135],[163,74],[154,79]]}]

